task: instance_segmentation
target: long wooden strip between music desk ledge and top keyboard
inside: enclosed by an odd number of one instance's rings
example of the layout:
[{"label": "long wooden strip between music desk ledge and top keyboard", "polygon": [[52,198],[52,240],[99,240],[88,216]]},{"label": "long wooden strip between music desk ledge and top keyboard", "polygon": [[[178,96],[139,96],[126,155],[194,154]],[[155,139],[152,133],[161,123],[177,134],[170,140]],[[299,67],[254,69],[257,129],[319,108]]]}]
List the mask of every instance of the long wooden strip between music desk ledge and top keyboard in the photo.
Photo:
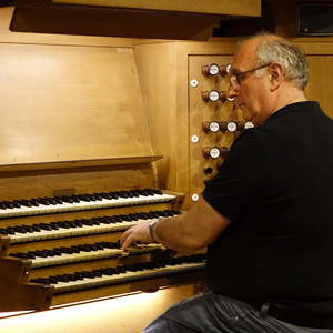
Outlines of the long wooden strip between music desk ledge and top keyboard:
[{"label": "long wooden strip between music desk ledge and top keyboard", "polygon": [[151,164],[65,170],[11,172],[0,174],[0,200],[31,199],[114,190],[155,188]]}]

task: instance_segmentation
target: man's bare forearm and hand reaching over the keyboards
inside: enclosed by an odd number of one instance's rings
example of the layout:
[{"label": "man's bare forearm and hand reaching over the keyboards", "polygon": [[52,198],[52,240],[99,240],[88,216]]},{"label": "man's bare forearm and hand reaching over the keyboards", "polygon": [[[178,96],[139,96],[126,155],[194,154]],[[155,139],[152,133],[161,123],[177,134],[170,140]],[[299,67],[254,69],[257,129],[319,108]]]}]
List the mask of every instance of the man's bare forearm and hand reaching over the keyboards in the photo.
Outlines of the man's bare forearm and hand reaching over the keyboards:
[{"label": "man's bare forearm and hand reaching over the keyboards", "polygon": [[[154,225],[154,239],[168,249],[178,251],[199,250],[212,243],[228,226],[230,220],[215,211],[202,196],[189,212],[160,220]],[[149,223],[143,222],[127,230],[122,249],[134,242],[150,243]]]}]

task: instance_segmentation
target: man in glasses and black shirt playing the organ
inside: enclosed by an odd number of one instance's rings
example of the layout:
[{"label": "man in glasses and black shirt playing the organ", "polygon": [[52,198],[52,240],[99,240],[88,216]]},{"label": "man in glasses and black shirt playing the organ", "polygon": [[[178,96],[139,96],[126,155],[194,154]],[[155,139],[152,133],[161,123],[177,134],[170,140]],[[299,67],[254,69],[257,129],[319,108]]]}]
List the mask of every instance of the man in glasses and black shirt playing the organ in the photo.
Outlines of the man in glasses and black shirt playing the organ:
[{"label": "man in glasses and black shirt playing the organ", "polygon": [[121,240],[208,245],[210,291],[144,332],[333,332],[333,121],[306,100],[306,60],[289,41],[252,37],[231,68],[229,95],[256,127],[188,213]]}]

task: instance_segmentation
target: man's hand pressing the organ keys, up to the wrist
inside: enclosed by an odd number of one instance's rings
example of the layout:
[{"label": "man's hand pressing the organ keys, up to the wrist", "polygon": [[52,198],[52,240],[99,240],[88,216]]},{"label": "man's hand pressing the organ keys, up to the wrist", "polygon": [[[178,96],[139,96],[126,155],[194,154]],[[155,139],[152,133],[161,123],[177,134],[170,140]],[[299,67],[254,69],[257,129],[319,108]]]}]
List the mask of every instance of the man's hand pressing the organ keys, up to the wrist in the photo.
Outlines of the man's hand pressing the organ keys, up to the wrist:
[{"label": "man's hand pressing the organ keys, up to the wrist", "polygon": [[128,229],[120,239],[122,250],[127,250],[131,244],[138,243],[153,243],[150,232],[149,222],[141,222]]}]

